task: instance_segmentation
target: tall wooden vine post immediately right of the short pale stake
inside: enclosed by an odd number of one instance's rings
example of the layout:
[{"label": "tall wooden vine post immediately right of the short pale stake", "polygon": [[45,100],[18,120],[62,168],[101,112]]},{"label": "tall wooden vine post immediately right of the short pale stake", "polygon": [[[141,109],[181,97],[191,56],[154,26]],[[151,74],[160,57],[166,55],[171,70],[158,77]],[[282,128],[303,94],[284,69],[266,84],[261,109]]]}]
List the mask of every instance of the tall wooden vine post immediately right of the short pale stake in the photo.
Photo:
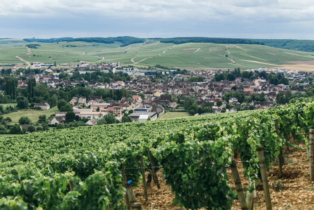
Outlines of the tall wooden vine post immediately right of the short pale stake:
[{"label": "tall wooden vine post immediately right of the short pale stake", "polygon": [[259,160],[258,161],[259,162],[259,168],[261,170],[262,183],[263,183],[265,202],[266,202],[266,209],[272,210],[273,208],[272,208],[272,202],[270,199],[270,192],[269,192],[269,185],[268,185],[268,178],[267,178],[266,163],[265,163],[263,147],[260,147],[257,149],[257,155],[258,155],[258,160]]}]

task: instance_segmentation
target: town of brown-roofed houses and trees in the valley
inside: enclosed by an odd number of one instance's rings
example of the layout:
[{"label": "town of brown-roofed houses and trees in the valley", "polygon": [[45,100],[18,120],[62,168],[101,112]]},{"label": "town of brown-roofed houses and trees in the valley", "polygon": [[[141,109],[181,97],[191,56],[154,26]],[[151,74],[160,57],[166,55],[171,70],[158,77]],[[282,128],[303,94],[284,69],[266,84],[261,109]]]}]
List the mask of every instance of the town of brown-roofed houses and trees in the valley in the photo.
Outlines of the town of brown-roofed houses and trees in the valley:
[{"label": "town of brown-roofed houses and trees in the valley", "polygon": [[[17,109],[48,110],[58,105],[59,111],[47,119],[49,125],[81,119],[96,125],[104,124],[107,114],[115,117],[114,123],[138,122],[156,120],[167,111],[217,114],[265,109],[314,96],[312,73],[279,68],[187,71],[138,69],[119,62],[62,65],[65,69],[40,62],[29,69],[1,69],[1,102],[17,99]],[[15,88],[8,87],[12,79],[17,80]],[[45,92],[34,94],[36,86]],[[73,112],[71,118],[68,112]]]}]

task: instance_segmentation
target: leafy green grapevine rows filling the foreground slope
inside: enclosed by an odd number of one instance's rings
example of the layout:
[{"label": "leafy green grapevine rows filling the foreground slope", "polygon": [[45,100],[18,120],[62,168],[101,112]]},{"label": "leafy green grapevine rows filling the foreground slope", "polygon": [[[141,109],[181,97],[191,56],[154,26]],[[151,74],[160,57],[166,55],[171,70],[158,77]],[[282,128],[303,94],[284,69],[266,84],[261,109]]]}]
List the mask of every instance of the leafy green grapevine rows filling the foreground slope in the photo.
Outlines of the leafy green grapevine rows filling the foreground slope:
[{"label": "leafy green grapevine rows filling the foreground slope", "polygon": [[[278,162],[278,173],[283,173],[284,146],[308,145],[308,179],[314,181],[313,142],[307,140],[312,139],[313,113],[314,102],[303,101],[258,111],[2,137],[0,209],[141,209],[132,186],[143,183],[145,191],[146,171],[158,187],[159,169],[180,207],[223,210],[239,202],[242,209],[251,209],[254,186],[262,180],[266,208],[272,209],[266,171]],[[230,188],[228,168],[236,190]],[[246,196],[243,175],[250,182]]]}]

